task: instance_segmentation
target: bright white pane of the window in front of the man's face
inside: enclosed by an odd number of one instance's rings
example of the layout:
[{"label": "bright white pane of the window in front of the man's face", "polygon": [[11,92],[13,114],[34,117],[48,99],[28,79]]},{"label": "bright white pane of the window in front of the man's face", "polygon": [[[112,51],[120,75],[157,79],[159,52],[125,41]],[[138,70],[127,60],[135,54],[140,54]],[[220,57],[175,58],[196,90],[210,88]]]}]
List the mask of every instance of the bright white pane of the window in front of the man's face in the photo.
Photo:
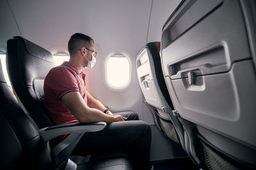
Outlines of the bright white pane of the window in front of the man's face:
[{"label": "bright white pane of the window in front of the man's face", "polygon": [[123,55],[113,55],[107,61],[107,80],[113,87],[125,87],[129,83],[130,63]]}]

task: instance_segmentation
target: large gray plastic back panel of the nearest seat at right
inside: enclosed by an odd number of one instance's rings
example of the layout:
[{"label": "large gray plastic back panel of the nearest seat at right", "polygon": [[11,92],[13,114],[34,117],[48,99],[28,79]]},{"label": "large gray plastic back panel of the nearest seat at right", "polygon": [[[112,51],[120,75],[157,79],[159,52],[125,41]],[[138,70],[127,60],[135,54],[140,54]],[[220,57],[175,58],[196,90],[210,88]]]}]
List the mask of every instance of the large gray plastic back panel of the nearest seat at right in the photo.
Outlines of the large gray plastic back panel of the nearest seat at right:
[{"label": "large gray plastic back panel of the nearest seat at right", "polygon": [[241,3],[184,1],[163,28],[161,60],[181,118],[255,150],[256,76]]}]

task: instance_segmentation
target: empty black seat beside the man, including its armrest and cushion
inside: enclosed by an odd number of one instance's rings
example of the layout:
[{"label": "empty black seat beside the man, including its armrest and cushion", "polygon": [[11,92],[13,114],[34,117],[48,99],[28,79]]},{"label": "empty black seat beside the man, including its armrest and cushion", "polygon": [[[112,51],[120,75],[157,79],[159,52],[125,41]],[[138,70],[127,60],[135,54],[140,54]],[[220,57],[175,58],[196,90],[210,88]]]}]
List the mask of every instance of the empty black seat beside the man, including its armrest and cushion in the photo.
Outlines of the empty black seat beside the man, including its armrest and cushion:
[{"label": "empty black seat beside the man, including its armrest and cushion", "polygon": [[[83,132],[101,131],[106,123],[65,124],[38,129],[35,122],[24,113],[4,79],[0,64],[0,169],[132,169],[127,157],[94,159],[76,164],[68,159],[67,153],[76,146],[64,141],[65,147],[57,145],[51,149],[47,142],[62,134],[77,136]],[[79,134],[81,133],[81,134]],[[71,136],[70,135],[70,136]],[[79,138],[76,138],[79,139]],[[52,152],[60,152],[54,155]],[[55,157],[54,157],[55,156]],[[80,157],[81,160],[83,157]],[[80,162],[81,162],[80,160]],[[85,159],[83,159],[85,160]]]}]

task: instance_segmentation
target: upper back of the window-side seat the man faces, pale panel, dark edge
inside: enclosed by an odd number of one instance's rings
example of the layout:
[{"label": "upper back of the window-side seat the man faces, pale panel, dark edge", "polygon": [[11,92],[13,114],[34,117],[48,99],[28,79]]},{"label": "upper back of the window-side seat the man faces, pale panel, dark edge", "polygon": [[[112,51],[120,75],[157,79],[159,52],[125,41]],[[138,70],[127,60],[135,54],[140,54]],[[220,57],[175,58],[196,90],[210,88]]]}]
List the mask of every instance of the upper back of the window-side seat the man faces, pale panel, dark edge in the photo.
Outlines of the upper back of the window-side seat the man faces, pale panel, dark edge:
[{"label": "upper back of the window-side seat the man faces, pale panel, dark edge", "polygon": [[[173,110],[172,100],[168,95],[163,78],[159,51],[155,43],[148,43],[143,47],[136,59],[136,67],[140,87],[147,103],[159,109],[165,107]],[[158,94],[158,91],[161,92],[161,95]]]}]

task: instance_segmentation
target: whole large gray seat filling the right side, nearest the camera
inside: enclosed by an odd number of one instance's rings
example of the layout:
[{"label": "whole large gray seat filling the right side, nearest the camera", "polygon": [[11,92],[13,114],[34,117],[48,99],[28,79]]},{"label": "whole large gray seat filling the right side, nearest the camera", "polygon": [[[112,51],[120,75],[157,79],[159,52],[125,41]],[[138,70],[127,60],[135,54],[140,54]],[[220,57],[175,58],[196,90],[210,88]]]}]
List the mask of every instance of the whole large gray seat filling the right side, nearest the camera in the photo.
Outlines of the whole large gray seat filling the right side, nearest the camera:
[{"label": "whole large gray seat filling the right side, nearest the camera", "polygon": [[161,64],[186,152],[206,169],[256,167],[256,1],[181,1]]}]

